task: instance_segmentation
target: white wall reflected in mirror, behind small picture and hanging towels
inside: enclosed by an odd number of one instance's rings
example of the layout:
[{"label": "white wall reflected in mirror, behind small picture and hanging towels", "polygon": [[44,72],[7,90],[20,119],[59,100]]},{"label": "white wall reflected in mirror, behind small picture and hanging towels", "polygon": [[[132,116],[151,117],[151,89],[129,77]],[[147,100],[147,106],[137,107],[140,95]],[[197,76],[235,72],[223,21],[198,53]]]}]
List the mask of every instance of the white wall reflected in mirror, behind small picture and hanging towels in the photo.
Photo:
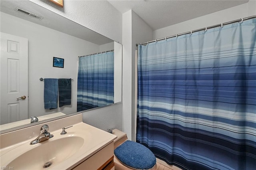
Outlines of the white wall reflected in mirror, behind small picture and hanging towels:
[{"label": "white wall reflected in mirror, behind small picture and hanging towels", "polygon": [[[99,45],[1,12],[1,32],[28,38],[28,116],[76,112],[77,60],[99,51]],[[53,57],[64,58],[64,68],[52,67]],[[44,109],[44,82],[39,78],[72,78],[71,105]]]}]

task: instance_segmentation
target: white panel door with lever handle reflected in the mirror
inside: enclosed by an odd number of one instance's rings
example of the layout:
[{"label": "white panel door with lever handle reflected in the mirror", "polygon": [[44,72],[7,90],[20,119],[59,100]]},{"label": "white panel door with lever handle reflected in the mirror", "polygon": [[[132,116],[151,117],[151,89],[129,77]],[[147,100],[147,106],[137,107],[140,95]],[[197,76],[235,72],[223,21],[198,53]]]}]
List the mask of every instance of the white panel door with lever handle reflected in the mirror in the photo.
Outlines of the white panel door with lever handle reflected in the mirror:
[{"label": "white panel door with lever handle reflected in the mirror", "polygon": [[28,39],[2,32],[0,36],[0,124],[3,125],[28,119]]}]

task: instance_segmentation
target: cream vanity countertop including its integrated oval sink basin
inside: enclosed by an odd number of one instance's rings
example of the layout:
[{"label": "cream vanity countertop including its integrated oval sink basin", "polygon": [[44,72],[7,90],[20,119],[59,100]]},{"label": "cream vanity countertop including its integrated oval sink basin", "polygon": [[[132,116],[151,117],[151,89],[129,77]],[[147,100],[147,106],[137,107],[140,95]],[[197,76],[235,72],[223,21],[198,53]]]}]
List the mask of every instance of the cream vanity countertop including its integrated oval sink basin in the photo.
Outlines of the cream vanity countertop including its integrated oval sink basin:
[{"label": "cream vanity countertop including its integrated oval sink basin", "polygon": [[[49,122],[48,125],[51,128],[54,123]],[[62,129],[56,129],[50,131],[54,137],[31,145],[30,142],[37,137],[37,130],[41,127],[36,126],[30,127],[33,130],[24,128],[11,132],[8,138],[4,136],[7,134],[0,135],[0,167],[15,170],[71,170],[116,138],[113,134],[80,122],[68,128],[67,134],[60,135]],[[26,140],[8,145],[9,141],[16,141],[29,132],[34,135],[27,135]],[[44,168],[48,162],[52,164]]]}]

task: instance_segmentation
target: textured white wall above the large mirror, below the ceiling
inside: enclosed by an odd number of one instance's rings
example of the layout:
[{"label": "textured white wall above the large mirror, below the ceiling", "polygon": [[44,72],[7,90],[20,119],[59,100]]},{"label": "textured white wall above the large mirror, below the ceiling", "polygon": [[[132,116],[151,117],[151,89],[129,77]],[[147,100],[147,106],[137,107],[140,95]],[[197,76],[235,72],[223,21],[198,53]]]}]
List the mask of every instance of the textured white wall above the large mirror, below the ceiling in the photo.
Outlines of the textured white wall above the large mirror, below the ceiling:
[{"label": "textured white wall above the large mirror, below the ceiling", "polygon": [[116,42],[122,43],[122,14],[106,0],[64,0],[64,7],[30,0]]}]

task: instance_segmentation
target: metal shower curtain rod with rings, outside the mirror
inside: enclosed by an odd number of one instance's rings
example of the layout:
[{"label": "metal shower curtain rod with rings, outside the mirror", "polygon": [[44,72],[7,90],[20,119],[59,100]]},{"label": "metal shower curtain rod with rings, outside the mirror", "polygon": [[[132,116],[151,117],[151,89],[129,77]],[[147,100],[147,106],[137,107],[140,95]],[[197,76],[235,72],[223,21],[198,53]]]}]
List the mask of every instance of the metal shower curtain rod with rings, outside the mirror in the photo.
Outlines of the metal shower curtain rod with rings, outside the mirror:
[{"label": "metal shower curtain rod with rings, outside the mirror", "polygon": [[182,35],[185,35],[185,34],[192,34],[194,32],[198,32],[198,31],[203,31],[203,30],[206,31],[207,29],[210,29],[210,28],[222,27],[222,26],[225,26],[225,25],[228,25],[228,24],[233,24],[233,23],[236,23],[236,22],[241,22],[242,23],[243,21],[250,20],[252,18],[256,18],[256,15],[249,16],[249,17],[246,17],[246,18],[241,18],[241,19],[238,19],[238,20],[233,20],[233,21],[230,21],[230,22],[224,22],[222,24],[217,24],[217,25],[210,26],[210,27],[200,28],[198,30],[193,30],[193,31],[190,31],[190,32],[184,32],[184,33],[181,33],[181,34],[176,34],[176,35],[173,35],[173,36],[152,40],[150,42],[136,43],[136,46],[138,46],[139,44],[142,45],[142,44],[148,44],[148,43],[152,43],[152,42],[157,42],[157,41],[160,41],[160,40],[166,40],[168,38],[178,37],[178,36],[182,36]]}]

